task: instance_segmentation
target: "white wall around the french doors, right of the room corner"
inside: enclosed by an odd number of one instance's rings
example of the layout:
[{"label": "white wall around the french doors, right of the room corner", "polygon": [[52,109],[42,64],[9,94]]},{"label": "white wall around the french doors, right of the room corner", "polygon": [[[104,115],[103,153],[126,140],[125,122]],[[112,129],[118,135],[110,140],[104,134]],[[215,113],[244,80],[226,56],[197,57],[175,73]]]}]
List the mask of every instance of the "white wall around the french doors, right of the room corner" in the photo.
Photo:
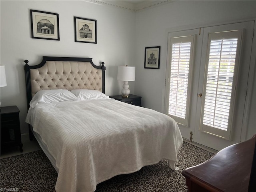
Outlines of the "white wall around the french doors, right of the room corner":
[{"label": "white wall around the french doors, right of the room corner", "polygon": [[[168,32],[252,18],[256,1],[174,1],[136,12],[135,94],[142,96],[142,106],[164,113]],[[144,48],[150,46],[161,46],[160,69],[144,69]],[[256,134],[255,100],[254,84],[246,138]]]}]

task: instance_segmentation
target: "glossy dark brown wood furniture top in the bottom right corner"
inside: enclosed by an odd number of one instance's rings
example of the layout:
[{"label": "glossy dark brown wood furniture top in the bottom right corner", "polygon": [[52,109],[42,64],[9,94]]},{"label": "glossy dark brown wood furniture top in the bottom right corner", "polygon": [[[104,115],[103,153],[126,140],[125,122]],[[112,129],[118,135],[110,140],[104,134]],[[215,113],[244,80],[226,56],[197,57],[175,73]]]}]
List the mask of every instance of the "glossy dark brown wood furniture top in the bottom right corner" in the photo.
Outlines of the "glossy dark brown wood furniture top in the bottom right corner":
[{"label": "glossy dark brown wood furniture top in the bottom right corner", "polygon": [[253,187],[250,182],[249,188],[251,170],[255,167],[252,163],[255,144],[256,135],[224,148],[200,165],[183,170],[188,192],[255,192],[255,184]]}]

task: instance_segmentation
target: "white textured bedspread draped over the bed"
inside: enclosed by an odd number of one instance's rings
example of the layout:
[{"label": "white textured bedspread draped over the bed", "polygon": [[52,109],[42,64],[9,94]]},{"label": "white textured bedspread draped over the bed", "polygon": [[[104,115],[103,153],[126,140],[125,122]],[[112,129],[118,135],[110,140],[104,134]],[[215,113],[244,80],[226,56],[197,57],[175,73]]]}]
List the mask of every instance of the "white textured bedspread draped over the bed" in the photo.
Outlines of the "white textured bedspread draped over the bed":
[{"label": "white textured bedspread draped over the bed", "polygon": [[26,122],[56,159],[57,192],[93,192],[161,159],[174,169],[183,142],[169,116],[113,99],[38,104]]}]

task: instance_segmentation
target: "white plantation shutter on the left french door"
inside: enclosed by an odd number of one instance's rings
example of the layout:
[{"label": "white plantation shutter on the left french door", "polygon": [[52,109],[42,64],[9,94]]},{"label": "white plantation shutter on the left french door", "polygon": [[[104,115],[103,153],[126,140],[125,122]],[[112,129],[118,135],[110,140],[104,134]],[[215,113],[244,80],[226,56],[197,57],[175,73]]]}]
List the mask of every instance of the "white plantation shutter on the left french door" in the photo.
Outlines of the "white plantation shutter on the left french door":
[{"label": "white plantation shutter on the left french door", "polygon": [[171,38],[168,115],[188,126],[194,36]]}]

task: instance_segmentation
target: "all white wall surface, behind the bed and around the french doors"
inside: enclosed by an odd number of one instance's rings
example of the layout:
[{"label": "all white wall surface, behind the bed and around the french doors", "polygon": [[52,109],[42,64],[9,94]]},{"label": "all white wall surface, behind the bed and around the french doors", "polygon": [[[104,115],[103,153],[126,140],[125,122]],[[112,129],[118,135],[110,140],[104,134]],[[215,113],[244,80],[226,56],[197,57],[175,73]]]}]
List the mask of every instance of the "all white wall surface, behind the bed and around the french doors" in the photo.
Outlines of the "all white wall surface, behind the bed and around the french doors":
[{"label": "all white wall surface, behind the bed and around the french doors", "polygon": [[[117,66],[136,66],[132,94],[142,96],[142,105],[164,112],[168,32],[206,24],[255,18],[256,1],[174,1],[131,12],[85,1],[0,1],[0,63],[6,65],[7,86],[0,89],[1,106],[20,108],[22,132],[28,132],[24,60],[35,65],[42,56],[91,57],[106,64],[106,94],[120,94]],[[60,41],[32,39],[30,9],[55,12],[60,19]],[[97,20],[97,44],[74,42],[74,16]],[[161,46],[160,69],[144,69],[144,48]],[[254,56],[255,63],[255,56]],[[253,79],[253,78],[251,78]],[[255,82],[255,79],[254,79]],[[255,84],[251,105],[255,106]],[[250,108],[246,137],[256,133],[255,107]]]}]

